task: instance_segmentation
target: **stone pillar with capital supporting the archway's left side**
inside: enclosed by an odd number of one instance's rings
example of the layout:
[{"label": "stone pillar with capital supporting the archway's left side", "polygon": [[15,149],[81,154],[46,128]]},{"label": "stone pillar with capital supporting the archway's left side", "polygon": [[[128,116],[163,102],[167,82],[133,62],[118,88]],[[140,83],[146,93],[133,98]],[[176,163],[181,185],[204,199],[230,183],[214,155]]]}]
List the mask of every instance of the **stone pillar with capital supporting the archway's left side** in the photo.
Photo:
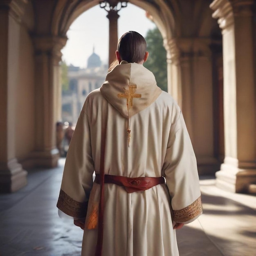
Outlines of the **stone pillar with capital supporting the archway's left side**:
[{"label": "stone pillar with capital supporting the archway's left side", "polygon": [[33,157],[38,166],[54,167],[59,157],[56,149],[56,121],[61,106],[56,106],[56,94],[60,86],[61,49],[66,40],[54,36],[34,37],[36,146]]}]

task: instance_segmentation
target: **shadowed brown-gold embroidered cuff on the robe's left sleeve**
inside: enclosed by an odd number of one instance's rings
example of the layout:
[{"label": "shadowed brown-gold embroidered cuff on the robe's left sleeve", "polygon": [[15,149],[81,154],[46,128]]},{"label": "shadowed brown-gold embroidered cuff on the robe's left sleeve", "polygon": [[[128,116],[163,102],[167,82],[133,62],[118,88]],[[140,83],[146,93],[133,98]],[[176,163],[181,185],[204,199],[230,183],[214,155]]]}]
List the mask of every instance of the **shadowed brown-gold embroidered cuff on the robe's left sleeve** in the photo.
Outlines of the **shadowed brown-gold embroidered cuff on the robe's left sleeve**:
[{"label": "shadowed brown-gold embroidered cuff on the robe's left sleeve", "polygon": [[88,202],[77,202],[61,189],[57,207],[67,215],[74,218],[85,218]]}]

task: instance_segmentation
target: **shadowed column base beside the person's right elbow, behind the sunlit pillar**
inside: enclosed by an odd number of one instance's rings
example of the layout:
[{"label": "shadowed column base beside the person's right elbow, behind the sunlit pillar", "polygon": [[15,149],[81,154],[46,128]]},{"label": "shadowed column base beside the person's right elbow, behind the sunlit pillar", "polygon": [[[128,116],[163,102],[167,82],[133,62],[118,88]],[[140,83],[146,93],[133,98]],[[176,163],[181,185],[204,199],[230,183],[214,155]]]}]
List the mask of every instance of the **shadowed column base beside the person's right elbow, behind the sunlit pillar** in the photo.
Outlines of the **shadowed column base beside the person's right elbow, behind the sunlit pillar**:
[{"label": "shadowed column base beside the person's right elbow, behind the sunlit pillar", "polygon": [[220,162],[213,157],[197,157],[199,175],[215,175],[220,170]]}]

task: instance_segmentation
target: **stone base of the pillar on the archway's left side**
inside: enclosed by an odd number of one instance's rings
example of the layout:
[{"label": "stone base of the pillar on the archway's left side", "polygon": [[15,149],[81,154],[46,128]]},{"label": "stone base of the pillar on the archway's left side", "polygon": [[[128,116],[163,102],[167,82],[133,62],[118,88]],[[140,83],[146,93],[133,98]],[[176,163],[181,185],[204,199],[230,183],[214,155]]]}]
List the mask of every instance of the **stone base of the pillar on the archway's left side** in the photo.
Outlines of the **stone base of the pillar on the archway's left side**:
[{"label": "stone base of the pillar on the archway's left side", "polygon": [[34,160],[34,166],[54,168],[58,166],[58,159],[60,157],[57,148],[50,151],[34,151],[31,153]]}]

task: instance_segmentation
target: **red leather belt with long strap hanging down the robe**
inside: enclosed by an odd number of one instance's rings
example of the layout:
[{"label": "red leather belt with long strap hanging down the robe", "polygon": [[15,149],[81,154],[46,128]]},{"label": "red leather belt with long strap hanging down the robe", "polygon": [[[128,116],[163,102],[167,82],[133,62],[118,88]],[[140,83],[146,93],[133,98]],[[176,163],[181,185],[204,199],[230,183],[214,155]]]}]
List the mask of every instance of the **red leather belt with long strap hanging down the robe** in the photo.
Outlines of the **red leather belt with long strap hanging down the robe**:
[{"label": "red leather belt with long strap hanging down the robe", "polygon": [[[101,175],[96,174],[95,180],[97,184],[101,184]],[[137,178],[128,178],[123,176],[115,176],[105,174],[103,177],[103,184],[101,184],[101,190],[104,189],[104,183],[113,183],[119,186],[124,186],[124,189],[128,193],[136,192],[136,191],[144,191],[152,188],[158,184],[164,184],[164,177],[137,177]],[[100,197],[99,202],[99,225],[98,225],[98,240],[95,256],[101,256],[102,252],[102,242],[103,242],[103,195]]]}]

